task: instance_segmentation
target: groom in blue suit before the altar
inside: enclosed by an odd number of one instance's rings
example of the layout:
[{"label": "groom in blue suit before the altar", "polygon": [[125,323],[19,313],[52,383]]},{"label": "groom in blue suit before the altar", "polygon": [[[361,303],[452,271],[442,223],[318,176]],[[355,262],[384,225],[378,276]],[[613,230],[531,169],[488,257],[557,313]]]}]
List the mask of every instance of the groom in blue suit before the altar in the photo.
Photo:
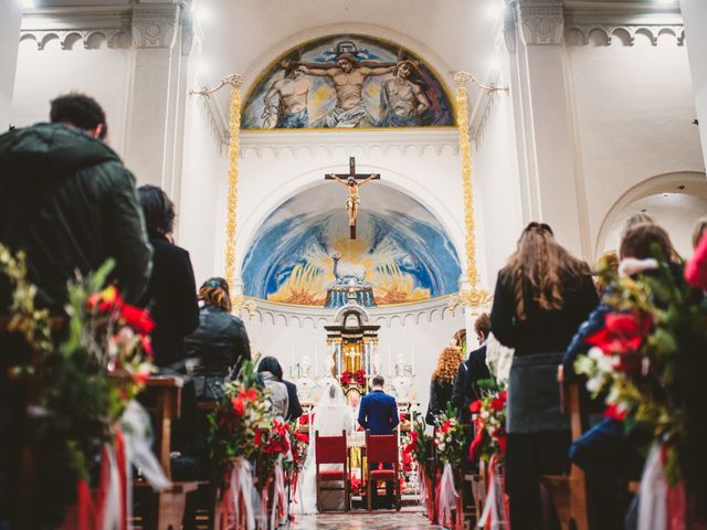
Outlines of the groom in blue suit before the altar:
[{"label": "groom in blue suit before the altar", "polygon": [[[398,417],[398,403],[392,395],[383,392],[386,380],[382,375],[374,375],[371,381],[371,392],[361,400],[358,423],[361,427],[370,430],[372,435],[393,434],[400,418]],[[378,467],[377,462],[369,462],[369,466]],[[391,468],[386,464],[386,468]],[[374,488],[378,491],[378,488]],[[393,483],[386,481],[386,505],[392,506]],[[373,497],[373,500],[376,497]]]}]

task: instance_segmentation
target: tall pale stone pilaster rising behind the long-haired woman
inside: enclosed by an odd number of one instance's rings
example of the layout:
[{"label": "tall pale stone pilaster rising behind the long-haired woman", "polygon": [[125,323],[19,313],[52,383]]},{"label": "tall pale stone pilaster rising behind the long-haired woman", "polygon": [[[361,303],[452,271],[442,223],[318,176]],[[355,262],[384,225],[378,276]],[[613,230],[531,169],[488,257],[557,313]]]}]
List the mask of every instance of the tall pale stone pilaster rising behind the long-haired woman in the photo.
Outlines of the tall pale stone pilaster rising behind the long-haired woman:
[{"label": "tall pale stone pilaster rising behind the long-haired woman", "polygon": [[505,33],[511,52],[524,214],[547,222],[563,246],[590,258],[583,177],[566,80],[562,1],[518,0],[507,9],[513,10]]}]

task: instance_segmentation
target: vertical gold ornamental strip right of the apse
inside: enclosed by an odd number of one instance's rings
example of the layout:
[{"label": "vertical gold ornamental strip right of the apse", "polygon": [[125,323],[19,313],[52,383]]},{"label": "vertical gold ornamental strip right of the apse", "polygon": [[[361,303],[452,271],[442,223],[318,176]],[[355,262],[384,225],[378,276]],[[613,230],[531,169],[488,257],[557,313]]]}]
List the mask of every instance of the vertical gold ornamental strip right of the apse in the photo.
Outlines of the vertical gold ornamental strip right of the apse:
[{"label": "vertical gold ornamental strip right of the apse", "polygon": [[468,136],[468,98],[466,83],[475,78],[466,72],[454,74],[456,84],[456,124],[460,129],[460,156],[462,158],[462,191],[464,197],[464,230],[466,246],[466,278],[469,288],[462,289],[452,297],[450,307],[462,305],[474,312],[486,307],[493,296],[478,288],[478,267],[476,265],[476,219],[474,215],[474,187],[472,184],[472,142]]}]

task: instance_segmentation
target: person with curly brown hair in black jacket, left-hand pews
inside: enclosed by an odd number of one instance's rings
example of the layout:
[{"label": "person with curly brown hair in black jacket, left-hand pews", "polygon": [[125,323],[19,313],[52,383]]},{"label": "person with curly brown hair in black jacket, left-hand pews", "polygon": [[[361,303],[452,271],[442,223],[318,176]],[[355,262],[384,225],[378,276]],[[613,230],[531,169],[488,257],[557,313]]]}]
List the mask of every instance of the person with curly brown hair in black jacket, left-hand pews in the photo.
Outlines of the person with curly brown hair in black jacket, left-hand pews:
[{"label": "person with curly brown hair in black jacket, left-hand pews", "polygon": [[194,365],[191,370],[198,400],[215,401],[223,395],[225,378],[236,375],[241,363],[251,360],[251,343],[243,321],[231,315],[229,284],[211,278],[199,289],[203,307],[199,311],[199,327],[184,339],[187,354]]}]

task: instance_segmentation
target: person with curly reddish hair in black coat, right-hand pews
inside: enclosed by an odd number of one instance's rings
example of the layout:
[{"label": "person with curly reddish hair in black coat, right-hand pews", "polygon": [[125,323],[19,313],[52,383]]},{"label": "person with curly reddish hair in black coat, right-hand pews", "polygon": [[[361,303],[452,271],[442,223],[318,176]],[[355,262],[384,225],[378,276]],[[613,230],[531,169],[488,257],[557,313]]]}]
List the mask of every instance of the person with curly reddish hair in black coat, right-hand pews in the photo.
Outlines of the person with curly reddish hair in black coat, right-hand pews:
[{"label": "person with curly reddish hair in black coat, right-hand pews", "polygon": [[482,346],[472,351],[468,359],[460,364],[452,388],[452,405],[458,411],[460,423],[464,425],[472,421],[469,405],[481,398],[478,382],[490,379],[490,372],[486,365],[486,339],[489,330],[490,316],[484,312],[474,322],[474,331],[476,331],[476,338]]}]

